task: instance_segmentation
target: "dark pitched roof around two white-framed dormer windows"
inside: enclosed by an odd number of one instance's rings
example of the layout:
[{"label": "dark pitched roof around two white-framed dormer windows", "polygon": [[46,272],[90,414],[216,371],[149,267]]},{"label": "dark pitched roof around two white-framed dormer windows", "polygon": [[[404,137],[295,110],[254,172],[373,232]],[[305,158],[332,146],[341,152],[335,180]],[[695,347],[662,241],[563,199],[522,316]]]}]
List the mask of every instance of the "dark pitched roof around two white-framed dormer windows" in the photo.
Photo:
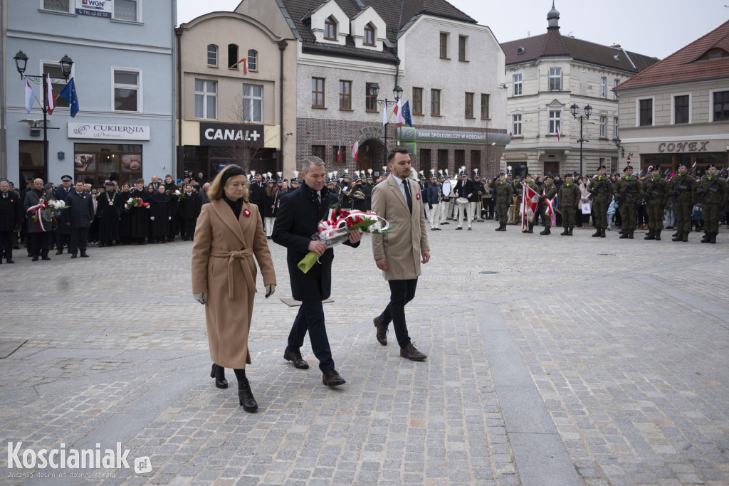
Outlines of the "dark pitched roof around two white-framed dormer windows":
[{"label": "dark pitched roof around two white-framed dormer windows", "polygon": [[[311,32],[310,16],[327,0],[276,0],[284,16],[289,17],[289,25],[294,34],[298,34],[303,44],[303,52],[320,53],[324,55],[343,56],[346,58],[362,58],[380,62],[397,63],[394,48],[386,47],[382,51],[371,49],[358,49],[354,39],[347,36],[346,44],[341,46],[327,42],[317,42]],[[413,17],[418,15],[434,15],[467,23],[476,23],[472,17],[464,14],[446,0],[404,0],[402,4],[402,20],[400,19],[400,2],[393,0],[334,0],[349,19],[356,17],[367,7],[373,7],[382,17],[387,26],[387,40],[393,46],[397,42],[398,23],[405,26]],[[287,19],[288,20],[288,19]]]}]

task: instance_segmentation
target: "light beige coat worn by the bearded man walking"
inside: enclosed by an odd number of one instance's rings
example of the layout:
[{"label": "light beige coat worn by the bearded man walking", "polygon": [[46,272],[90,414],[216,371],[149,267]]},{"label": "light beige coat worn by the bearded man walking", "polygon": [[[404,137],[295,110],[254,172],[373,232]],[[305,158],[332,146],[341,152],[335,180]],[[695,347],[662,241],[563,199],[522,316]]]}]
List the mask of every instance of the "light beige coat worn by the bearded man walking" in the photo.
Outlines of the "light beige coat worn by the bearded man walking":
[{"label": "light beige coat worn by the bearded man walking", "polygon": [[375,260],[386,258],[385,280],[412,280],[421,275],[421,251],[430,251],[426,232],[425,211],[420,185],[408,179],[413,199],[413,213],[408,202],[390,175],[372,191],[372,211],[382,216],[397,229],[387,235],[372,235]]}]

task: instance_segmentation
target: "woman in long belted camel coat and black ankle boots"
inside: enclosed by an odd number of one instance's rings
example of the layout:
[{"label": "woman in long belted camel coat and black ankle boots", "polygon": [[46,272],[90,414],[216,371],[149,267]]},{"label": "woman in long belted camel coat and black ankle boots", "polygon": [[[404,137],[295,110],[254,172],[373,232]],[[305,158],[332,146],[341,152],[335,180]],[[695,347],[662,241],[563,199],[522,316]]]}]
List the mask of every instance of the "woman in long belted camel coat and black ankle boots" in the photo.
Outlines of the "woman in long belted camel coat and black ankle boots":
[{"label": "woman in long belted camel coat and black ankle boots", "polygon": [[208,345],[213,359],[211,377],[227,388],[225,368],[238,378],[238,399],[246,412],[258,408],[246,364],[251,364],[248,334],[256,292],[256,263],[263,275],[266,297],[276,289],[266,235],[258,207],[248,201],[246,174],[228,165],[208,189],[192,246],[192,294],[205,305]]}]

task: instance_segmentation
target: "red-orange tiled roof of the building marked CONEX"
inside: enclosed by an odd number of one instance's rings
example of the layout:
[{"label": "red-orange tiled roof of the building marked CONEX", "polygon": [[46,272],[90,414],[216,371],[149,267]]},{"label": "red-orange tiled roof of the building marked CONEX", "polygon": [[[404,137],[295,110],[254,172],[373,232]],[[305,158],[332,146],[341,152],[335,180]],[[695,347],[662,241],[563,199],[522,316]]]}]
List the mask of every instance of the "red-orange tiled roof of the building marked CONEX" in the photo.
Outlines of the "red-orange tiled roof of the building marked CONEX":
[{"label": "red-orange tiled roof of the building marked CONEX", "polygon": [[729,52],[729,20],[614,89],[729,77],[729,58],[700,60],[712,49]]}]

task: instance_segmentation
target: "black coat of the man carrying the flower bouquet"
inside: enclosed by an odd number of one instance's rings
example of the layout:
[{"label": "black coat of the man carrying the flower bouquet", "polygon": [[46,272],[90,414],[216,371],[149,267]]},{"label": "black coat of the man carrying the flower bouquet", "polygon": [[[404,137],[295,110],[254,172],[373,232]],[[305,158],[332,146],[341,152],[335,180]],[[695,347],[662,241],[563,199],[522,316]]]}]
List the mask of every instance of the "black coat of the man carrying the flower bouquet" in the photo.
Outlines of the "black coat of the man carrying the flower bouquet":
[{"label": "black coat of the man carrying the flower bouquet", "polygon": [[[271,236],[274,243],[287,249],[286,263],[289,265],[292,295],[296,300],[324,300],[332,294],[333,248],[324,251],[319,256],[321,264],[314,264],[308,273],[299,270],[297,264],[308,254],[311,236],[316,233],[319,222],[327,217],[329,208],[337,203],[337,195],[326,186],[321,189],[321,207],[318,207],[316,192],[306,184],[281,197]],[[359,243],[352,245],[348,241],[344,244],[359,246]]]}]

